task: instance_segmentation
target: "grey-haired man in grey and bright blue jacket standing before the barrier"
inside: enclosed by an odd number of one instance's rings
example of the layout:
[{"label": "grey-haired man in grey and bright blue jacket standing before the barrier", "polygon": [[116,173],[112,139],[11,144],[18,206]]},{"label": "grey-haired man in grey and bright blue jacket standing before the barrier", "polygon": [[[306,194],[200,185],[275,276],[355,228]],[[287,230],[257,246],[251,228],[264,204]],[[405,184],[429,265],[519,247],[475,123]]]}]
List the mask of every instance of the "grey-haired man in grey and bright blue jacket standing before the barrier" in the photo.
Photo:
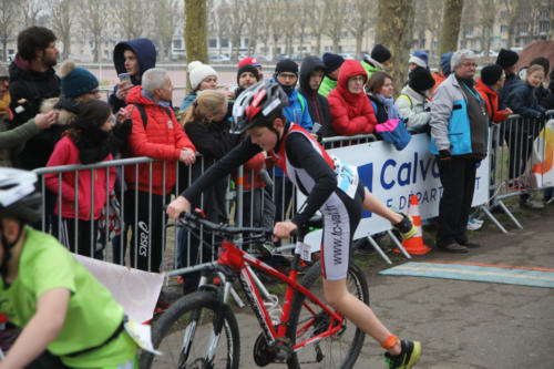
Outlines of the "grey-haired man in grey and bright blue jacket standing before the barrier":
[{"label": "grey-haired man in grey and bright blue jacket standing before the barrier", "polygon": [[449,253],[479,247],[466,235],[476,164],[486,156],[488,147],[486,107],[473,81],[475,58],[471,50],[454,52],[454,73],[437,89],[431,107],[430,150],[438,155],[443,187],[437,247]]}]

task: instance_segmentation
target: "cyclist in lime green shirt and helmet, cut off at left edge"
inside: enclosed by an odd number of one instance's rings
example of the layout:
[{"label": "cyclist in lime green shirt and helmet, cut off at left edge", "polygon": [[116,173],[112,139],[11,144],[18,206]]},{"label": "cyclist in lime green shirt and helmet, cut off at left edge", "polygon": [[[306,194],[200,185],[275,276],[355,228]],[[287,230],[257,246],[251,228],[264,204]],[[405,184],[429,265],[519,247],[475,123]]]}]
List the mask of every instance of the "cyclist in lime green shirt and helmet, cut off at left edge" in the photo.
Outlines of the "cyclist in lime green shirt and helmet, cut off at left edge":
[{"label": "cyclist in lime green shirt and helmet, cut off at left edge", "polygon": [[136,369],[123,308],[48,234],[32,172],[0,168],[0,312],[22,328],[0,368]]}]

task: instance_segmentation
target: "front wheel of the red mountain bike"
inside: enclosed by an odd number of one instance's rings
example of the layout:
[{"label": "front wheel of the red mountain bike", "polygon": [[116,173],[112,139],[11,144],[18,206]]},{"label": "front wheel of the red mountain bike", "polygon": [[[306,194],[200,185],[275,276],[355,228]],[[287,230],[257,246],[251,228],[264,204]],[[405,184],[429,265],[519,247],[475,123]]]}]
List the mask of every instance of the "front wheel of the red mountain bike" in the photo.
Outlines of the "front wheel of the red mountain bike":
[{"label": "front wheel of the red mountain bike", "polygon": [[[204,368],[219,304],[211,291],[194,293],[175,301],[153,325],[152,342],[162,355],[143,351],[140,368]],[[228,306],[223,306],[222,311],[223,328],[212,368],[237,369],[240,352],[237,320]]]}]

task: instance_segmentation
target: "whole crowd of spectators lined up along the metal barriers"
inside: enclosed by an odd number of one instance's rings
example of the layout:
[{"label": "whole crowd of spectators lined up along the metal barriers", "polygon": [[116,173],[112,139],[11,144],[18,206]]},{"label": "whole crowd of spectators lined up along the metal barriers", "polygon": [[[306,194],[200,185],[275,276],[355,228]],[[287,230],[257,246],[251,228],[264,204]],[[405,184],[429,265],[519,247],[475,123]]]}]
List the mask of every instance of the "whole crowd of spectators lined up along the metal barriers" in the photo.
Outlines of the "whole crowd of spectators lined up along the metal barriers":
[{"label": "whole crowd of spectators lined up along the metal barriers", "polygon": [[[514,51],[502,49],[495,63],[478,65],[472,51],[456,50],[441,55],[440,71],[431,73],[429,55],[416,51],[408,61],[408,81],[394,91],[388,72],[391,51],[382,44],[376,44],[361,61],[328,52],[322,58],[306,57],[300,65],[281,60],[273,75],[264,75],[260,62],[246,58],[237,66],[236,86],[220,86],[214,68],[193,61],[187,65],[192,91],[177,109],[170,74],[156,68],[156,49],[148,39],[115,47],[113,62],[120,83],[103,102],[99,81],[86,69],[66,60],[55,73],[55,42],[49,29],[25,29],[18,35],[18,53],[9,69],[0,66],[1,165],[35,170],[122,157],[156,160],[140,164],[136,172],[112,166],[44,175],[43,222],[64,246],[103,258],[101,245],[110,223],[103,211],[113,206],[119,212],[119,204],[124,203],[125,226],[110,236],[113,257],[123,263],[131,229],[131,265],[144,270],[160,270],[163,246],[158,240],[166,222],[163,206],[175,186],[181,192],[240,143],[244,137],[229,132],[234,102],[245,99],[248,89],[264,79],[285,91],[286,119],[318,141],[373,133],[402,150],[411,134],[430,134],[444,189],[437,247],[450,253],[479,247],[468,239],[466,225],[475,167],[488,155],[489,127],[511,114],[527,119],[501,133],[510,145],[510,178],[519,186],[545,111],[554,109],[554,75],[545,58],[533,60],[520,78]],[[479,78],[478,66],[482,66]],[[294,201],[291,183],[280,170],[269,167],[266,158],[266,153],[258,154],[245,165],[244,180],[237,173],[232,178],[245,191],[243,222],[255,226],[286,218]],[[268,172],[275,180],[271,189]],[[214,222],[228,222],[227,185],[216,183],[193,201]],[[545,191],[544,199],[551,197],[552,192]],[[527,193],[521,195],[520,204],[544,206]],[[178,266],[212,257],[203,252],[203,237],[208,235],[179,232]],[[194,290],[196,283],[197,276],[188,278],[185,291]]]}]

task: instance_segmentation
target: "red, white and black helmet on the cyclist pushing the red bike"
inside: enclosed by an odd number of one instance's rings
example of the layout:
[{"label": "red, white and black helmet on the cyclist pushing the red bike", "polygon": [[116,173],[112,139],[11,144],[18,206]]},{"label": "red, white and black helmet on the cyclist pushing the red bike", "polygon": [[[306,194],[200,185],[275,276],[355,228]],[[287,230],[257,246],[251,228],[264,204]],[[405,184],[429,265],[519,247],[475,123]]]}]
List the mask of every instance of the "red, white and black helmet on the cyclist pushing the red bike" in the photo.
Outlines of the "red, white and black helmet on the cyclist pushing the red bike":
[{"label": "red, white and black helmet on the cyclist pushing the red bike", "polygon": [[246,89],[233,105],[232,133],[242,134],[276,109],[288,105],[285,91],[276,82],[260,81]]}]

